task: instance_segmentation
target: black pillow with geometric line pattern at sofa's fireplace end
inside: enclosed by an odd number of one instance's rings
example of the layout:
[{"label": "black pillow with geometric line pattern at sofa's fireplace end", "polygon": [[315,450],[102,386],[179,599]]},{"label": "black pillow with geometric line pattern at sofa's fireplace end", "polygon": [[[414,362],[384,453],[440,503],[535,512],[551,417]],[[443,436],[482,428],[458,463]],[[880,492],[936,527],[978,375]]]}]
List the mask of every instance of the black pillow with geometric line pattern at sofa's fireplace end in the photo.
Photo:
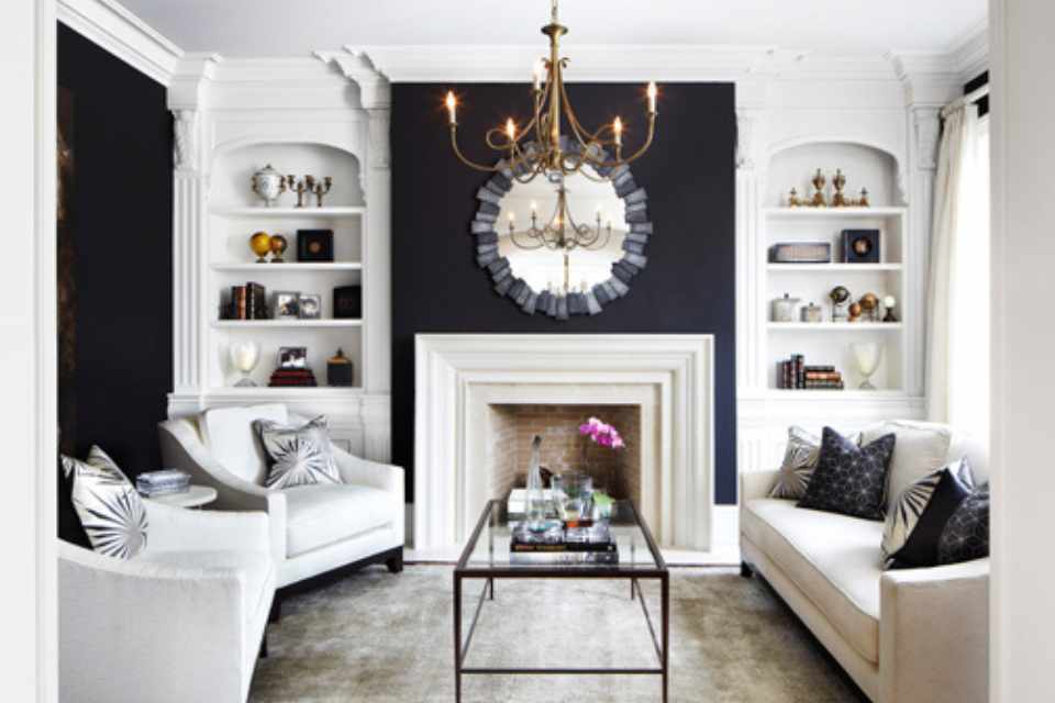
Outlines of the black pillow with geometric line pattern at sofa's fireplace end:
[{"label": "black pillow with geometric line pattern at sofa's fireplace end", "polygon": [[891,433],[858,447],[852,439],[824,427],[817,469],[799,507],[884,520],[887,471],[896,442]]}]

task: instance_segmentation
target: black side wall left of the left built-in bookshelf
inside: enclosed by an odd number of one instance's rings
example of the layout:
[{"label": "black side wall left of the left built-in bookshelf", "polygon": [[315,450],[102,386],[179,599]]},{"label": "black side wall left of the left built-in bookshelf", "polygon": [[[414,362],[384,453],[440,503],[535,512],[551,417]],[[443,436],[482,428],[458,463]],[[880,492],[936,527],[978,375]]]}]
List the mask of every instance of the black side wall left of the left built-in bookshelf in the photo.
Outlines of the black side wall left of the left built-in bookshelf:
[{"label": "black side wall left of the left built-in bookshelf", "polygon": [[171,118],[164,86],[62,24],[58,85],[75,164],[76,420],[63,444],[81,457],[98,444],[134,476],[159,468],[173,388]]}]

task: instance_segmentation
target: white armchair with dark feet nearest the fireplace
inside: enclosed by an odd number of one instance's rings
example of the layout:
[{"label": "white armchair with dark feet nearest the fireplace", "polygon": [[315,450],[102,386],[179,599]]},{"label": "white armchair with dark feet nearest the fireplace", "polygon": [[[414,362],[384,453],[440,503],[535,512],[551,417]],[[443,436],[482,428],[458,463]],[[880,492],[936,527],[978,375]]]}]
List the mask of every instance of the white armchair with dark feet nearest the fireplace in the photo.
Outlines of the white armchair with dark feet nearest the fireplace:
[{"label": "white armchair with dark feet nearest the fireplace", "polygon": [[253,421],[302,423],[282,404],[219,408],[160,423],[166,467],[216,489],[219,510],[264,511],[281,589],[347,565],[403,565],[403,470],[334,447],[340,484],[264,487],[267,465]]}]

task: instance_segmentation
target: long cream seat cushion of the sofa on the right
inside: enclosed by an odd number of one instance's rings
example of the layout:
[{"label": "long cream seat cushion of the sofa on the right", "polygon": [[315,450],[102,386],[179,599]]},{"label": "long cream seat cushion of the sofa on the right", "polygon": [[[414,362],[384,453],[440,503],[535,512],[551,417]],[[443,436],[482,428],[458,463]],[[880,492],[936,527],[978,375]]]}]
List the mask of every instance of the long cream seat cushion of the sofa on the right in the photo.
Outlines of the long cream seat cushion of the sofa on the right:
[{"label": "long cream seat cushion of the sofa on the right", "polygon": [[[857,654],[879,661],[882,523],[756,499],[741,531],[776,563]],[[839,538],[833,538],[837,535]]]}]

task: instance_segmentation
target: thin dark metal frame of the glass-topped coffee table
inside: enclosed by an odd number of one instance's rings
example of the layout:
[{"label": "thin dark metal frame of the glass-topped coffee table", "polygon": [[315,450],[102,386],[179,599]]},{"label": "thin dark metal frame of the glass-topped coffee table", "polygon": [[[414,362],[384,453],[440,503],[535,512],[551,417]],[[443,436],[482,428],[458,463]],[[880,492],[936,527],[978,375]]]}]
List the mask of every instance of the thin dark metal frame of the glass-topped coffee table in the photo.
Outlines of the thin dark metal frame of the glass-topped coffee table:
[{"label": "thin dark metal frame of the glass-topped coffee table", "polygon": [[[663,560],[659,547],[656,545],[648,529],[648,525],[641,518],[637,506],[632,501],[628,501],[634,514],[634,520],[645,537],[648,550],[655,561],[655,567],[635,567],[633,569],[621,569],[619,565],[480,565],[470,563],[469,559],[476,548],[477,539],[484,531],[487,521],[491,517],[495,510],[500,509],[501,501],[489,501],[480,515],[476,528],[469,537],[468,544],[462,551],[462,558],[454,569],[454,676],[455,676],[455,701],[462,701],[462,677],[463,676],[488,676],[488,674],[563,674],[563,676],[597,676],[597,674],[619,674],[619,676],[659,676],[663,680],[663,702],[667,701],[668,674],[669,674],[669,649],[670,649],[670,573],[667,565]],[[473,622],[469,624],[468,633],[463,641],[462,637],[462,582],[465,579],[480,579],[485,581],[484,589],[480,592],[479,601],[476,604],[476,611],[473,614]],[[466,657],[469,654],[469,645],[473,643],[473,634],[476,632],[476,624],[480,617],[480,611],[484,609],[484,602],[495,600],[495,581],[499,579],[610,579],[630,581],[630,598],[641,602],[641,610],[645,616],[645,623],[648,625],[648,633],[652,636],[652,644],[656,649],[658,666],[645,668],[512,668],[512,667],[467,667]],[[652,615],[648,613],[648,605],[645,603],[644,593],[641,590],[641,580],[659,581],[660,589],[660,625],[657,636],[655,625],[652,622]]]}]

